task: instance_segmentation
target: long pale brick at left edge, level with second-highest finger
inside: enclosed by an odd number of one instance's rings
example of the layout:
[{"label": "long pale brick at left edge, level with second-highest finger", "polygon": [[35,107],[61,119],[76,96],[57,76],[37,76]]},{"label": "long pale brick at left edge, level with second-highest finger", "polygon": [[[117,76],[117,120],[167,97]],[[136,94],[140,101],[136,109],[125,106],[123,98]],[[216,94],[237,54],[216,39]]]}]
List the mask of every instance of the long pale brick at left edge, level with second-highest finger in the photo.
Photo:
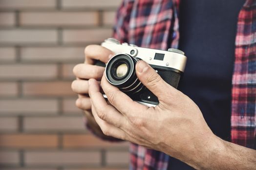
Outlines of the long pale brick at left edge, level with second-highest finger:
[{"label": "long pale brick at left edge, level with second-highest finger", "polygon": [[57,65],[0,65],[0,79],[27,80],[57,78]]}]

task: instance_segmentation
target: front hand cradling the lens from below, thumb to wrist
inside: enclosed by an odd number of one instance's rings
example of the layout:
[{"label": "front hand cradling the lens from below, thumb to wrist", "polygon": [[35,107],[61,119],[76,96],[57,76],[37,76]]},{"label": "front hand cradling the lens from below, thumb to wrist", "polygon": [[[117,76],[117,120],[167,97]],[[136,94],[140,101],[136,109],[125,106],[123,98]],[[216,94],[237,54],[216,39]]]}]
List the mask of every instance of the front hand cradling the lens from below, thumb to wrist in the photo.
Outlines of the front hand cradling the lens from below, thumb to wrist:
[{"label": "front hand cradling the lens from below, thumb to wrist", "polygon": [[136,74],[158,97],[156,107],[132,101],[103,76],[101,86],[109,105],[100,93],[99,83],[89,80],[92,114],[103,133],[167,153],[194,168],[210,169],[212,154],[226,152],[226,148],[212,133],[197,105],[163,81],[144,61],[136,64]]}]

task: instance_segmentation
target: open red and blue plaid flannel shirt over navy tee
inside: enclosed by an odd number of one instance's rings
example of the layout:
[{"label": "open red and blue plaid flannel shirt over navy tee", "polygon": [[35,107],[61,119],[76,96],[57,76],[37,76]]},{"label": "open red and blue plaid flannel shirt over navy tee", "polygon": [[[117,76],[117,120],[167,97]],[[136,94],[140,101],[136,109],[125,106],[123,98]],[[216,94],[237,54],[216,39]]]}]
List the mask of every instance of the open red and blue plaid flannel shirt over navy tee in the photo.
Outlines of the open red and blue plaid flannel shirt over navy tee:
[{"label": "open red and blue plaid flannel shirt over navy tee", "polygon": [[[118,9],[114,37],[139,47],[178,48],[179,0],[124,0]],[[256,148],[256,0],[246,0],[239,15],[232,80],[231,141]],[[166,170],[169,156],[130,146],[131,170]]]}]

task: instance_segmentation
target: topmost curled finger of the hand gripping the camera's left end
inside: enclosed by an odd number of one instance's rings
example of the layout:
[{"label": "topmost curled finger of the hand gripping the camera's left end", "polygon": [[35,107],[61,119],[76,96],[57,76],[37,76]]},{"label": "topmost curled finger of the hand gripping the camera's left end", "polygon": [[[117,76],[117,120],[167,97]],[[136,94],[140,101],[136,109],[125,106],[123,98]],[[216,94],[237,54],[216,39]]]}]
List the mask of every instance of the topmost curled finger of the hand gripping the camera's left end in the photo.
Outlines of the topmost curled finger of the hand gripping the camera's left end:
[{"label": "topmost curled finger of the hand gripping the camera's left end", "polygon": [[85,47],[85,64],[94,64],[94,60],[100,60],[107,63],[114,52],[100,45],[88,45]]}]

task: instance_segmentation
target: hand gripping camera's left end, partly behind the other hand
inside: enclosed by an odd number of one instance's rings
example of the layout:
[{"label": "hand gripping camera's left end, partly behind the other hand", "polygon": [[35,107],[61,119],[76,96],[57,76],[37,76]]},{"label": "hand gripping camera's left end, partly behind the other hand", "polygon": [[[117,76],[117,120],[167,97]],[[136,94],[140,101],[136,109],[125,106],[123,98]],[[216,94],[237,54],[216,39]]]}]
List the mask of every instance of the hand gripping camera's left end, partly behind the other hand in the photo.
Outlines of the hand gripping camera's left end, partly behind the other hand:
[{"label": "hand gripping camera's left end, partly behind the other hand", "polygon": [[112,51],[100,45],[87,46],[85,48],[85,63],[78,64],[73,68],[73,73],[76,76],[76,80],[73,81],[71,85],[72,90],[78,94],[76,106],[84,110],[88,126],[94,133],[105,139],[111,139],[112,137],[105,136],[102,133],[99,125],[92,116],[91,102],[88,96],[88,80],[93,78],[100,81],[104,74],[105,68],[95,66],[94,63],[96,60],[107,63],[113,55],[114,53]]}]

